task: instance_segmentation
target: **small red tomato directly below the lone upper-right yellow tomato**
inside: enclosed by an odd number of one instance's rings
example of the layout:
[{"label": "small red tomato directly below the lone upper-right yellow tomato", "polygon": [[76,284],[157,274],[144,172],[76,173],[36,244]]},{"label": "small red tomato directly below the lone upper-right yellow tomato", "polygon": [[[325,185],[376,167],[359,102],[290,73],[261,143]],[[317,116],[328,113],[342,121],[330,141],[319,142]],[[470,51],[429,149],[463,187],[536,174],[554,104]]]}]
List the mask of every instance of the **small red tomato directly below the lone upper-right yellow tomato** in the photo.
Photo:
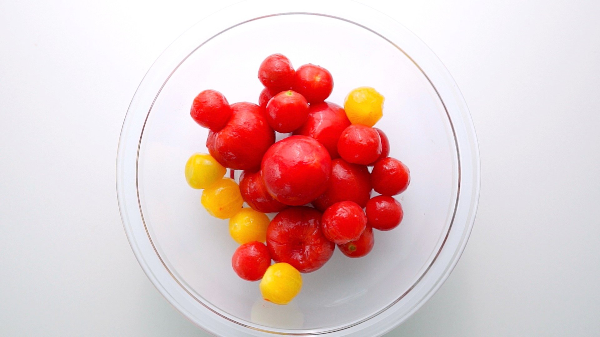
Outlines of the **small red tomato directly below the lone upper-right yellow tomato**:
[{"label": "small red tomato directly below the lone upper-right yellow tomato", "polygon": [[352,124],[341,133],[338,152],[349,163],[367,165],[381,155],[381,138],[374,128]]}]

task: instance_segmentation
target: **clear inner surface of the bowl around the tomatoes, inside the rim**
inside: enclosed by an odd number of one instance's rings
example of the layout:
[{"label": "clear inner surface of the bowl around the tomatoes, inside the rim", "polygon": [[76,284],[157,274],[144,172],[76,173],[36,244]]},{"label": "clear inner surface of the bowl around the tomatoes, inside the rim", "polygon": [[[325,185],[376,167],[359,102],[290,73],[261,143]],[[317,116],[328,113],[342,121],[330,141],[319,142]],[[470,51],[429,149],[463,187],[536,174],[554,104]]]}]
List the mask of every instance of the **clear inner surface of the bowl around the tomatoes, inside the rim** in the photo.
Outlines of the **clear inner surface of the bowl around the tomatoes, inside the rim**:
[{"label": "clear inner surface of the bowl around the tomatoes, inside the rim", "polygon": [[[199,305],[265,330],[348,326],[401,299],[439,251],[457,200],[451,124],[418,65],[375,32],[316,14],[262,17],[201,43],[157,94],[137,165],[146,230],[173,278]],[[403,161],[412,176],[409,189],[397,196],[404,208],[400,227],[376,231],[374,249],[364,258],[347,258],[336,249],[322,269],[303,275],[301,293],[287,306],[264,302],[258,282],[235,275],[230,259],[238,245],[229,237],[227,221],[209,216],[200,204],[202,191],[184,179],[188,157],[208,152],[207,130],[189,115],[194,96],[215,89],[230,103],[257,103],[262,90],[257,69],[271,53],[283,53],[295,67],[327,68],[334,77],[328,98],[333,103],[343,105],[347,92],[358,86],[381,92],[384,116],[376,126],[389,137],[391,157]]]}]

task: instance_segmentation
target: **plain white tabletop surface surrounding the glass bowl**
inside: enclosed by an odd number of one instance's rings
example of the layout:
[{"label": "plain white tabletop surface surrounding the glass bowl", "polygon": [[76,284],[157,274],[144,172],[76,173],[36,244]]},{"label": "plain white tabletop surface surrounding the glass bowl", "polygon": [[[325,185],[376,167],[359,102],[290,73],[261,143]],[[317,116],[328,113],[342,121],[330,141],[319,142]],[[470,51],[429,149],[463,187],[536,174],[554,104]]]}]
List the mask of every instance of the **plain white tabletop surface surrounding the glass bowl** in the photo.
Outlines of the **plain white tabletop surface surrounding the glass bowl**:
[{"label": "plain white tabletop surface surrounding the glass bowl", "polygon": [[[115,193],[124,114],[160,52],[227,1],[0,0],[0,335],[208,336],[164,300]],[[370,1],[469,104],[481,200],[439,292],[393,336],[600,331],[600,5]]]}]

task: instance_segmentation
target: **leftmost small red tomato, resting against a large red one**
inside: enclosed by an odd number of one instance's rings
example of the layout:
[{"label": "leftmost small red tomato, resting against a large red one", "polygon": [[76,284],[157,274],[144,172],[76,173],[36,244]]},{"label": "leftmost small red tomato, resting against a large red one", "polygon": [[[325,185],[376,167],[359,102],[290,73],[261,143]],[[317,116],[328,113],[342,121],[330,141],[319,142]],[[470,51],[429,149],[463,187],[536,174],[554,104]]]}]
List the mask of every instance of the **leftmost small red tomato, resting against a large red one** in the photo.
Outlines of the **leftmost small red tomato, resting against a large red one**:
[{"label": "leftmost small red tomato, resting against a large red one", "polygon": [[194,98],[190,115],[197,124],[212,131],[221,130],[231,117],[231,107],[218,91],[205,90]]}]

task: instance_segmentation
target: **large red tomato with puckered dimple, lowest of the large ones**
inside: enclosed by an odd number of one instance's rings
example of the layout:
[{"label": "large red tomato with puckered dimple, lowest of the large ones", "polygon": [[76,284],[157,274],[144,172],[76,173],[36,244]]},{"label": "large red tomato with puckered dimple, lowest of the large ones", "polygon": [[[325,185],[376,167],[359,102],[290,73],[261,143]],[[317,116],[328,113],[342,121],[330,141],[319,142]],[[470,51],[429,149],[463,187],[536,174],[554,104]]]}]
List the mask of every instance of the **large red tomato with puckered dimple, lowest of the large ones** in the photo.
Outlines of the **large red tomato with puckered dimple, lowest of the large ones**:
[{"label": "large red tomato with puckered dimple, lowest of the large ones", "polygon": [[307,206],[279,212],[266,230],[266,246],[273,260],[289,263],[302,273],[322,267],[331,258],[335,244],[323,235],[321,216]]}]

